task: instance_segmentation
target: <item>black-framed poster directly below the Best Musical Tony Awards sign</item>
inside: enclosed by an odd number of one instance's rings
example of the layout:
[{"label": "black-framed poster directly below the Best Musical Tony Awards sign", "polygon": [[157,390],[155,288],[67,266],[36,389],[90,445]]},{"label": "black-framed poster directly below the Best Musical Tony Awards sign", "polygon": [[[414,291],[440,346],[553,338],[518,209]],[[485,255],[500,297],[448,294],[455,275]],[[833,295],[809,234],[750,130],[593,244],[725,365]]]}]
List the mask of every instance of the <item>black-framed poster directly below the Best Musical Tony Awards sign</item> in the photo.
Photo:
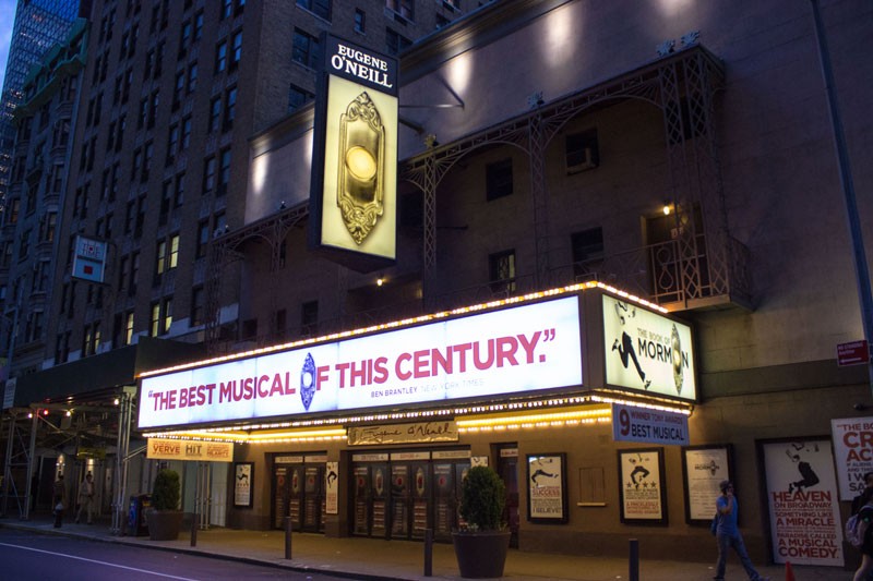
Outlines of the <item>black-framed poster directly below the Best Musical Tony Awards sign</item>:
[{"label": "black-framed poster directly below the Best Musical Tony Awards sign", "polygon": [[621,521],[667,524],[663,448],[619,450]]}]

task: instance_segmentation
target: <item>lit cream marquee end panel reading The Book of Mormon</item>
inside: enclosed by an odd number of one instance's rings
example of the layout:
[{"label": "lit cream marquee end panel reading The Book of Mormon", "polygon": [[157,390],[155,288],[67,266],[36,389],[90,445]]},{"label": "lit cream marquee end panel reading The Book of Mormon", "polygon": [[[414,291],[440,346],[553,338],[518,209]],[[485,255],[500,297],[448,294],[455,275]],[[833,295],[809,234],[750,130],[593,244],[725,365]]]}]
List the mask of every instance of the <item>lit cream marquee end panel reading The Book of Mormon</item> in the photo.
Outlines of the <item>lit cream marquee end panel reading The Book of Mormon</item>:
[{"label": "lit cream marquee end panel reading The Book of Mormon", "polygon": [[603,294],[607,384],[696,401],[691,327]]}]

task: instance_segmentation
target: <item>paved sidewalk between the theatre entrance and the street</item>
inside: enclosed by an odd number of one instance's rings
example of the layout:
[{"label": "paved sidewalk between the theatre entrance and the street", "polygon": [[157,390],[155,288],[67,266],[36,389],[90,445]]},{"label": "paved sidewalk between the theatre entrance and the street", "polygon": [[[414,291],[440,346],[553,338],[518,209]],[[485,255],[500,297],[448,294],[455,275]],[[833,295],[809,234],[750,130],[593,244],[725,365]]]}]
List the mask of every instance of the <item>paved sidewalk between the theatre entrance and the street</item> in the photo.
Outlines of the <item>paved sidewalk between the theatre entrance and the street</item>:
[{"label": "paved sidewalk between the theatre entrance and the street", "polygon": [[[151,541],[147,536],[116,536],[106,523],[52,526],[48,517],[29,521],[0,519],[0,528],[34,531],[172,550],[194,555],[242,560],[297,571],[330,573],[360,580],[457,580],[461,579],[452,545],[433,545],[432,577],[424,577],[424,545],[407,541],[376,538],[327,538],[319,534],[294,533],[291,559],[285,558],[283,531],[237,531],[211,529],[198,531],[196,546],[191,546],[191,532],[183,531],[177,541]],[[715,560],[715,547],[713,548]],[[756,564],[758,565],[758,564]],[[851,573],[839,567],[792,566],[796,581],[845,581]],[[758,566],[773,581],[786,579],[781,565]],[[711,579],[711,562],[641,560],[639,579],[644,581],[704,581]],[[615,581],[629,579],[626,559],[573,557],[511,549],[503,579],[513,581],[577,580]],[[734,555],[728,559],[726,579],[746,579]]]}]

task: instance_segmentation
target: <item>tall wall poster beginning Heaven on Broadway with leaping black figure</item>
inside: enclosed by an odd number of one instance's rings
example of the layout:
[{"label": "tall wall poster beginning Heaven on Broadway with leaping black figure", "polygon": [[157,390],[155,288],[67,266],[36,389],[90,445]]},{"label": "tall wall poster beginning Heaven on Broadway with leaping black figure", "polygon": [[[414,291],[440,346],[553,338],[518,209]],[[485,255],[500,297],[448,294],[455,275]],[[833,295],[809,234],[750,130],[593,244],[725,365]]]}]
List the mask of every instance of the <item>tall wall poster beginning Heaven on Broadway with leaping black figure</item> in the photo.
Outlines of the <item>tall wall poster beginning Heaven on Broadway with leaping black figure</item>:
[{"label": "tall wall poster beginning Heaven on Broadway with leaping black figure", "polygon": [[[767,443],[762,448],[773,560],[841,567],[842,522],[830,440]],[[740,511],[754,510],[753,495],[742,497],[746,508],[740,505]]]}]

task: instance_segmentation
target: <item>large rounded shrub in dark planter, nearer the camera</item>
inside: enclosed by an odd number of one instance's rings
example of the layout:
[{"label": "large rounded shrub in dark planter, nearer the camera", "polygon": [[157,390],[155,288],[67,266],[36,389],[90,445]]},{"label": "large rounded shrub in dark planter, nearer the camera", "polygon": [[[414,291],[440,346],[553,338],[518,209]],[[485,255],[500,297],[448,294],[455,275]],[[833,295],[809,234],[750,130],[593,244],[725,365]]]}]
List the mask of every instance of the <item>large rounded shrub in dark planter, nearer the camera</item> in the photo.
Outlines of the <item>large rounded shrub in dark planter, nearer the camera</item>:
[{"label": "large rounded shrub in dark planter, nearer the camera", "polygon": [[506,486],[488,467],[474,467],[461,484],[461,518],[464,524],[452,533],[461,577],[503,577],[510,548],[510,530],[503,520]]}]

